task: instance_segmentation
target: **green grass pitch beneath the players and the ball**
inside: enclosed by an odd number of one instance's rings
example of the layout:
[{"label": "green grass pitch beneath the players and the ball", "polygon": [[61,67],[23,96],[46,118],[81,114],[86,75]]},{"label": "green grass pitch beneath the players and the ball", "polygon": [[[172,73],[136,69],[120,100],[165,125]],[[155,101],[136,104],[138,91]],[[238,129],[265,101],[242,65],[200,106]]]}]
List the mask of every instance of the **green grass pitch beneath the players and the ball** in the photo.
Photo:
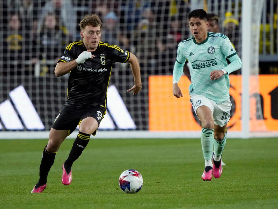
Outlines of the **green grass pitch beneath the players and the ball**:
[{"label": "green grass pitch beneath the players and the ball", "polygon": [[[202,181],[200,139],[94,139],[61,183],[73,140],[59,149],[42,194],[39,178],[47,140],[0,140],[0,208],[278,208],[278,138],[228,139],[223,174]],[[138,170],[137,194],[118,186],[120,174]]]}]

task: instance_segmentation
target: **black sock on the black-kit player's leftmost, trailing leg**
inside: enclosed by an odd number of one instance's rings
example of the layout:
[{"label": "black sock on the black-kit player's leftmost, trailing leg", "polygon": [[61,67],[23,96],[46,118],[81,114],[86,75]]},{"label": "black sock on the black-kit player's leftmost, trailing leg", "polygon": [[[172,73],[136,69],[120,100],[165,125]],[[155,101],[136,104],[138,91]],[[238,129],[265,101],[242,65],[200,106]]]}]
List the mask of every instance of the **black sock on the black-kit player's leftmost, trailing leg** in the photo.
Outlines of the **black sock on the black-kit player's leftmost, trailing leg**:
[{"label": "black sock on the black-kit player's leftmost, trailing leg", "polygon": [[36,188],[38,188],[39,186],[41,186],[43,184],[46,184],[48,172],[54,163],[54,159],[55,159],[55,155],[56,155],[56,153],[48,152],[46,150],[46,146],[43,149],[43,155],[41,157],[40,179],[39,179],[38,183],[36,184]]}]

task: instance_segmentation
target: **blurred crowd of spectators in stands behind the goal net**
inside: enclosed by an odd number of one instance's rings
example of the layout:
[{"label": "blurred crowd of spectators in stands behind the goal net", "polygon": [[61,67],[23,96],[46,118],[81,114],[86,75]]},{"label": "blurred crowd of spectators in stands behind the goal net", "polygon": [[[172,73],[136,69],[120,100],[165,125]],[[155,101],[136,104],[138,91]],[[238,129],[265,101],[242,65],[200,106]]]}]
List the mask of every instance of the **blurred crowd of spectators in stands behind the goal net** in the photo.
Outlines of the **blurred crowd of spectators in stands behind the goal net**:
[{"label": "blurred crowd of spectators in stands behind the goal net", "polygon": [[[191,36],[187,19],[190,0],[6,0],[1,4],[3,75],[54,75],[65,47],[81,39],[78,23],[85,14],[99,15],[101,41],[136,54],[142,74],[172,74],[177,45]],[[220,32],[240,54],[239,21],[226,12]],[[277,32],[277,24],[275,27]]]}]

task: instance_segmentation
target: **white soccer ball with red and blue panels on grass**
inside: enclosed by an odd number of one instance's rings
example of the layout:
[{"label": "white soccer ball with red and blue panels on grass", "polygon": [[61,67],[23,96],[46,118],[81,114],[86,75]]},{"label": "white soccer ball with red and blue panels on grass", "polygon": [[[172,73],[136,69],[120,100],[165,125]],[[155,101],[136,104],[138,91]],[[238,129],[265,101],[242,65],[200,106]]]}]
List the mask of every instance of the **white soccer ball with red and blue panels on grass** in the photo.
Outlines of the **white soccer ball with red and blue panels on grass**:
[{"label": "white soccer ball with red and blue panels on grass", "polygon": [[125,193],[139,192],[143,186],[142,175],[137,170],[125,170],[120,175],[119,186]]}]

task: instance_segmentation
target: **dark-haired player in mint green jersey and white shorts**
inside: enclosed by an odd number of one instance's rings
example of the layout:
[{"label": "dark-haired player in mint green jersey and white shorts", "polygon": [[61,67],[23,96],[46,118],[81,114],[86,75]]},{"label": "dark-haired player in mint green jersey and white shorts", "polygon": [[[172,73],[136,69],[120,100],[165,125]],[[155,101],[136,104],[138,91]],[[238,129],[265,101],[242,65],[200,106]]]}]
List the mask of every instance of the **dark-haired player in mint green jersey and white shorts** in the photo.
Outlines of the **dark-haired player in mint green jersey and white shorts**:
[{"label": "dark-haired player in mint green jersey and white shorts", "polygon": [[[221,155],[226,144],[225,129],[230,120],[229,73],[241,68],[240,58],[229,38],[221,33],[207,32],[206,11],[189,14],[193,36],[178,45],[173,70],[173,95],[182,97],[178,86],[186,58],[191,64],[190,102],[202,122],[201,144],[205,160],[204,181],[222,174]],[[231,62],[227,64],[226,58]],[[214,151],[213,151],[214,148]]]}]

